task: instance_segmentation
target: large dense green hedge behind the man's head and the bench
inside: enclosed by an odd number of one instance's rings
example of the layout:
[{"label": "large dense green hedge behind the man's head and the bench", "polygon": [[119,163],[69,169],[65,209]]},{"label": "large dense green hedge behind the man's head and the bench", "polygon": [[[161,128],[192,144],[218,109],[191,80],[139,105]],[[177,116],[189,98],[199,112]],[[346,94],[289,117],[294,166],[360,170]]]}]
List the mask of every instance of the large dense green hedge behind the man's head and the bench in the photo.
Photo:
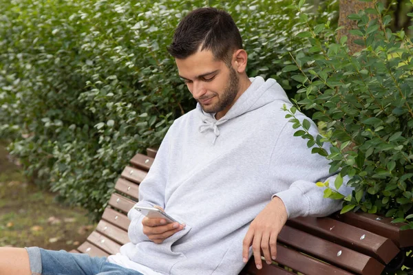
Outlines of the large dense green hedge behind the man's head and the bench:
[{"label": "large dense green hedge behind the man's head and the bench", "polygon": [[[0,0],[0,135],[28,175],[98,217],[129,159],[195,107],[166,50],[180,19],[205,4],[228,10],[248,74],[294,94],[282,67],[307,45],[290,3]],[[305,7],[315,21],[337,17],[337,0],[319,8],[331,12]]]}]

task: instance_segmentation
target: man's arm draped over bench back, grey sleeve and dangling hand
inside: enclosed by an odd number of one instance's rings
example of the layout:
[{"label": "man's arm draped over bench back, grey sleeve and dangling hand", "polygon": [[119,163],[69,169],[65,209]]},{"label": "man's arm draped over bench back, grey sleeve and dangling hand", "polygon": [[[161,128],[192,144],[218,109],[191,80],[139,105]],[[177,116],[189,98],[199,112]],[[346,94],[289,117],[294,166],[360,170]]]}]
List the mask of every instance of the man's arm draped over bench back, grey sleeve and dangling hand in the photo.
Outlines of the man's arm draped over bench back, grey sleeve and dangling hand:
[{"label": "man's arm draped over bench back, grey sleeve and dangling hand", "polygon": [[[306,118],[296,114],[299,120]],[[308,118],[306,118],[309,120]],[[317,135],[313,122],[310,133]],[[277,188],[271,202],[257,215],[246,233],[243,243],[243,261],[248,259],[248,250],[252,245],[257,268],[262,268],[261,250],[266,263],[271,263],[277,256],[277,236],[287,219],[300,216],[324,217],[339,210],[342,201],[324,199],[324,188],[316,186],[317,181],[335,181],[335,175],[328,170],[330,165],[325,157],[312,154],[306,140],[294,137],[295,131],[287,123],[279,135],[273,149],[269,175]],[[283,149],[288,146],[288,151]],[[326,149],[328,146],[326,144]],[[282,154],[282,155],[281,155]],[[282,186],[284,190],[279,190]],[[343,184],[339,192],[347,195],[351,189]]]}]

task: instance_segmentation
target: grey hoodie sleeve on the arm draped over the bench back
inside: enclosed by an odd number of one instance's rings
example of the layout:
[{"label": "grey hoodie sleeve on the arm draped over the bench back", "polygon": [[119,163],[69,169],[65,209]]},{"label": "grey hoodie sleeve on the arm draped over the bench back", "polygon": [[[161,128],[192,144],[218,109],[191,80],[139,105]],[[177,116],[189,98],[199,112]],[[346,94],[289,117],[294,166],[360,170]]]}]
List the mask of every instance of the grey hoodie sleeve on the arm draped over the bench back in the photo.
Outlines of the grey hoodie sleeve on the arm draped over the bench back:
[{"label": "grey hoodie sleeve on the arm draped over the bench back", "polygon": [[[295,116],[301,122],[306,118],[298,112]],[[309,118],[306,119],[311,123],[310,134],[316,137],[317,126]],[[337,175],[328,172],[330,165],[326,157],[311,153],[311,149],[307,147],[308,140],[294,136],[298,130],[293,129],[290,122],[286,122],[275,143],[269,171],[277,186],[273,197],[282,199],[288,219],[301,216],[325,217],[339,210],[342,201],[325,199],[325,188],[316,186],[316,182],[329,180],[332,183],[330,187],[334,188]],[[329,151],[328,144],[325,143],[324,148]],[[343,195],[348,195],[352,191],[346,186],[347,181],[348,178],[345,177],[339,189]]]}]

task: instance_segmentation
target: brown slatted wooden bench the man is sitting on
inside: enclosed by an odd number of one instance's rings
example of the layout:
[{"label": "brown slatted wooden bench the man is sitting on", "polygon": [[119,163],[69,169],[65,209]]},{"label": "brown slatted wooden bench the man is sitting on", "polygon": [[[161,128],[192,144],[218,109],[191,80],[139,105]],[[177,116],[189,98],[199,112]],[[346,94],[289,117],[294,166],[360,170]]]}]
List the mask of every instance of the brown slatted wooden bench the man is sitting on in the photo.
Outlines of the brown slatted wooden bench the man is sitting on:
[{"label": "brown slatted wooden bench the man is sitting on", "polygon": [[[156,151],[137,154],[116,182],[102,219],[87,241],[72,252],[92,256],[116,254],[129,242],[127,212],[138,200],[139,184],[147,175]],[[297,198],[299,199],[299,198]],[[289,220],[278,236],[277,262],[257,270],[250,260],[242,275],[366,274],[413,267],[413,230],[399,230],[392,219],[352,212],[330,217]],[[240,259],[241,261],[241,259]]]}]

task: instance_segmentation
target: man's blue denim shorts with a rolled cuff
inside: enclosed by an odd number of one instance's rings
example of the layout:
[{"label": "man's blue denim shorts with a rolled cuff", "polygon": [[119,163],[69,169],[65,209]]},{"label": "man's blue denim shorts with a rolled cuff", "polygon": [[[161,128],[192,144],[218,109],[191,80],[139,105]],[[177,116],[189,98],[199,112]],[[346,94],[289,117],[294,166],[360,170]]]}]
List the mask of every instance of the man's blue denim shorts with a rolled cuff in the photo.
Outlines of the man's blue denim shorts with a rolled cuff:
[{"label": "man's blue denim shorts with a rolled cuff", "polygon": [[135,270],[108,263],[106,257],[26,248],[32,275],[143,275]]}]

